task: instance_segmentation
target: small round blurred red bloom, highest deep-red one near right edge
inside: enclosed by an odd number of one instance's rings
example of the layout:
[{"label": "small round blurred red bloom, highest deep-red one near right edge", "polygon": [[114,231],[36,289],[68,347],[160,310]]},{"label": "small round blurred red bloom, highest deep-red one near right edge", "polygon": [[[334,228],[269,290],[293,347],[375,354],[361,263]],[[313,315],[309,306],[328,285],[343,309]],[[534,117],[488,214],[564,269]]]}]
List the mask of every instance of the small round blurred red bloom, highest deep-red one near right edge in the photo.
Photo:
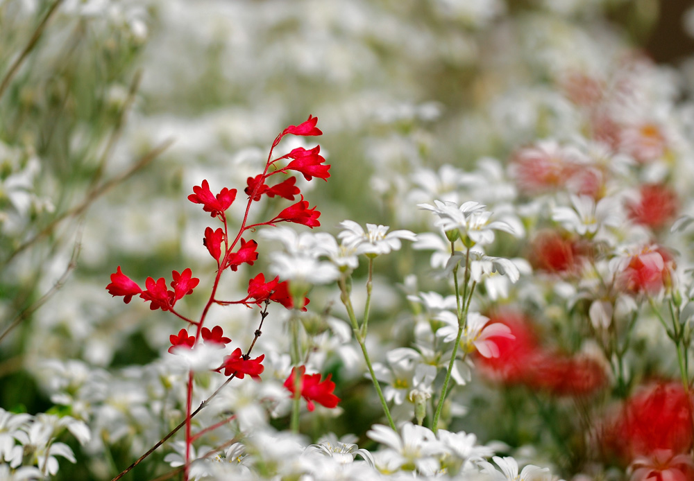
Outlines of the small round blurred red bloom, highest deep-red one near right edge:
[{"label": "small round blurred red bloom, highest deep-red one near right edge", "polygon": [[629,218],[637,224],[661,229],[677,215],[677,195],[666,186],[645,184],[641,186],[639,194],[638,202],[627,204]]}]

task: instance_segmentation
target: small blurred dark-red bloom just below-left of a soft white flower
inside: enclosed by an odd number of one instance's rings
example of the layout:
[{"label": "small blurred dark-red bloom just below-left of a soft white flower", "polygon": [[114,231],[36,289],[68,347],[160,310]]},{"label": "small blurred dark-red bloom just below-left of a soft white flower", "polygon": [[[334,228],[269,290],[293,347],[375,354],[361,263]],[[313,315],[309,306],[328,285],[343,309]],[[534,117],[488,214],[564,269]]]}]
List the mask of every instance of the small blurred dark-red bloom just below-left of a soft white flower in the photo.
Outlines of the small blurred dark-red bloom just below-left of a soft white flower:
[{"label": "small blurred dark-red bloom just below-left of a soft white flower", "polygon": [[530,245],[530,263],[545,272],[575,272],[579,268],[578,246],[556,231],[542,231]]}]

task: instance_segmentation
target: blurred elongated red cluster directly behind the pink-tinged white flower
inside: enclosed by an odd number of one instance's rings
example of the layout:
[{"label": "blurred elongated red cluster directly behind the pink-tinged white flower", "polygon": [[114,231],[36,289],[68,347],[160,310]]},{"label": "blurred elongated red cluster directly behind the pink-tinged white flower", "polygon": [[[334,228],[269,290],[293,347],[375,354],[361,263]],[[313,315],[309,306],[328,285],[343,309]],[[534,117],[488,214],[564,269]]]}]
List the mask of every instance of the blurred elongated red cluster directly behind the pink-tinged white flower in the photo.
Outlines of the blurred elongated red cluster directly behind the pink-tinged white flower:
[{"label": "blurred elongated red cluster directly behind the pink-tinged white flower", "polygon": [[589,396],[607,385],[607,376],[599,362],[543,349],[522,315],[507,311],[493,315],[491,322],[506,324],[515,339],[492,336],[499,356],[477,358],[480,370],[487,377],[555,396]]}]

